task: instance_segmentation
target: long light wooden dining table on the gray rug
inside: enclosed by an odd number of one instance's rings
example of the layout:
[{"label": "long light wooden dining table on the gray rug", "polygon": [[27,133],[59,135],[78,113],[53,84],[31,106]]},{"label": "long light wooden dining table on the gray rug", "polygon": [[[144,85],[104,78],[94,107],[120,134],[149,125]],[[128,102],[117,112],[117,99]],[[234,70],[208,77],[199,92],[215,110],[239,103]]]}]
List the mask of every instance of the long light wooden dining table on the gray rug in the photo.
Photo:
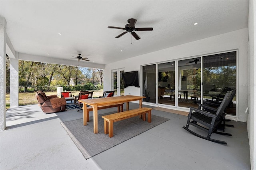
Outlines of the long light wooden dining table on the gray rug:
[{"label": "long light wooden dining table on the gray rug", "polygon": [[93,108],[93,131],[98,133],[98,107],[100,106],[109,106],[116,105],[120,103],[126,103],[126,110],[129,110],[129,102],[139,101],[139,107],[142,107],[142,99],[144,96],[134,96],[134,95],[125,95],[125,96],[116,96],[116,97],[105,97],[105,98],[96,98],[96,99],[80,99],[79,102],[83,103],[84,109],[84,125],[87,125],[87,105],[92,106]]}]

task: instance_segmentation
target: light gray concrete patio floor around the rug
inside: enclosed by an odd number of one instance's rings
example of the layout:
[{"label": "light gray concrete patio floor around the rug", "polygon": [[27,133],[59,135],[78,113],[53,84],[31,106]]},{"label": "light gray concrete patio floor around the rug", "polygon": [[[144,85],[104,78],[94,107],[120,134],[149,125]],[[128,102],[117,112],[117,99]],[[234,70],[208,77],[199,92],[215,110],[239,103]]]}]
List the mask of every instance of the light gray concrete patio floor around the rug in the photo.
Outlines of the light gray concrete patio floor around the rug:
[{"label": "light gray concrete patio floor around the rug", "polygon": [[[131,109],[136,107],[130,103]],[[115,110],[103,109],[99,114]],[[86,160],[60,124],[80,119],[82,113],[45,114],[38,105],[8,109],[7,128],[0,132],[0,169],[250,170],[246,123],[229,123],[235,127],[226,127],[225,132],[233,136],[212,134],[228,143],[224,145],[184,130],[186,116],[158,110],[152,114],[170,120]]]}]

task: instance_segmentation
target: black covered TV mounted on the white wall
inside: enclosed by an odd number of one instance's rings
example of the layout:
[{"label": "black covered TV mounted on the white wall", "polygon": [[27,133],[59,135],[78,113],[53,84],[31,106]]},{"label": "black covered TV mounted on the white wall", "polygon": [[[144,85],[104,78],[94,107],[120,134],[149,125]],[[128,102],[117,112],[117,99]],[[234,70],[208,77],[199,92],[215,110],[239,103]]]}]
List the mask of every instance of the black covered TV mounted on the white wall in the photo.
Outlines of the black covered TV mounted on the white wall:
[{"label": "black covered TV mounted on the white wall", "polygon": [[124,83],[124,88],[128,86],[139,86],[139,73],[138,71],[130,71],[122,73],[122,79]]}]

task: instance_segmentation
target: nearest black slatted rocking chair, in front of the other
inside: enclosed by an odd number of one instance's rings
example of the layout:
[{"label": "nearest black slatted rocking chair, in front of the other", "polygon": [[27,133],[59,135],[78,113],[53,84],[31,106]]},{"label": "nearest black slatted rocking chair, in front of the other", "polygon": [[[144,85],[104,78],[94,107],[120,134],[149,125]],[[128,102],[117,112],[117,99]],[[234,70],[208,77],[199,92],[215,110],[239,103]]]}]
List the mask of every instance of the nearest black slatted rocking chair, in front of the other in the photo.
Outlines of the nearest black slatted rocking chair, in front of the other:
[{"label": "nearest black slatted rocking chair, in front of the other", "polygon": [[[222,103],[220,104],[220,107],[218,107],[218,109],[211,108],[211,107],[204,106],[204,105],[199,106],[199,108],[202,107],[203,109],[207,108],[212,111],[216,111],[215,114],[206,112],[201,109],[196,109],[196,108],[190,107],[190,113],[188,114],[188,121],[187,121],[186,127],[183,127],[183,128],[186,129],[188,132],[190,132],[200,138],[210,140],[212,142],[227,144],[227,142],[225,142],[225,141],[212,139],[210,137],[211,137],[212,133],[232,136],[232,134],[217,131],[219,125],[222,122],[222,114],[224,112],[224,109],[226,108],[226,106],[228,105],[228,103],[230,101],[231,95],[232,95],[232,91],[228,91],[226,93],[226,95],[225,95]],[[208,134],[206,136],[202,136],[201,134],[196,133],[196,131],[192,131],[192,130],[188,129],[189,125],[200,128],[201,130],[208,132]]]}]

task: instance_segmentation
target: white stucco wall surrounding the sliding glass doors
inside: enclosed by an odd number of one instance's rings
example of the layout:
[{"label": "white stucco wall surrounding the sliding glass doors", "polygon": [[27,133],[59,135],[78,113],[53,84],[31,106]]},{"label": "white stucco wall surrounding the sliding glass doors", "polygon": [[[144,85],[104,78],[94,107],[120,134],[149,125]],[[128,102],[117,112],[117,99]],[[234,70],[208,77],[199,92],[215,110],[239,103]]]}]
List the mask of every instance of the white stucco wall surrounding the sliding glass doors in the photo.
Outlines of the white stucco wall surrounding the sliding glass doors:
[{"label": "white stucco wall surrounding the sliding glass doors", "polygon": [[[198,40],[195,42],[177,45],[160,51],[154,51],[139,55],[130,59],[117,61],[105,65],[104,69],[104,89],[111,89],[111,70],[124,68],[127,71],[139,71],[140,88],[142,87],[142,76],[140,74],[141,65],[182,59],[196,55],[206,55],[221,51],[238,49],[237,71],[237,102],[238,102],[238,121],[247,121],[247,115],[244,114],[248,107],[248,29],[244,28],[234,32],[228,32],[218,36]],[[142,95],[140,88],[127,87],[125,94]]]}]

